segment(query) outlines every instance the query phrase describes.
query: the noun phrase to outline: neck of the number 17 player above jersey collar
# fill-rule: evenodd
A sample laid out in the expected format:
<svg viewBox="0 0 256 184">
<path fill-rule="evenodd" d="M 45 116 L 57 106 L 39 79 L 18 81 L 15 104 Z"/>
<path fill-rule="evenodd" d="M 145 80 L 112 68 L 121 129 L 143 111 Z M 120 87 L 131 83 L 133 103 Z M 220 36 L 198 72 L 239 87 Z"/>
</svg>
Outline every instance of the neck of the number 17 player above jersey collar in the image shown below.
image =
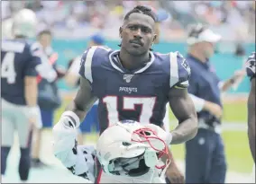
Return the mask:
<svg viewBox="0 0 256 184">
<path fill-rule="evenodd" d="M 149 62 L 151 57 L 149 52 L 141 56 L 133 56 L 121 48 L 119 58 L 125 69 L 134 70 Z"/>
</svg>

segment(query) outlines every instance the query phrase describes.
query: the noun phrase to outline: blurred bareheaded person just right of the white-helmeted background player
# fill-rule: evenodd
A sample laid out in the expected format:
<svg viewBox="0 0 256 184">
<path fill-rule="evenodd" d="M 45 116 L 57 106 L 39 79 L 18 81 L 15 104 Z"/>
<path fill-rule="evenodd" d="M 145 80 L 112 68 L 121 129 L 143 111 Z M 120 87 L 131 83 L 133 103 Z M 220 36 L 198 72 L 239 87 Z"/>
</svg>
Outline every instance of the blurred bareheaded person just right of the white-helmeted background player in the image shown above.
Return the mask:
<svg viewBox="0 0 256 184">
<path fill-rule="evenodd" d="M 58 54 L 51 48 L 52 33 L 50 29 L 42 26 L 37 33 L 37 41 L 38 46 L 42 49 L 41 66 L 38 67 L 40 74 L 37 78 L 42 127 L 34 129 L 32 167 L 46 166 L 40 159 L 42 130 L 52 127 L 54 111 L 61 104 L 57 82 L 65 74 L 65 71 L 56 64 Z"/>
</svg>

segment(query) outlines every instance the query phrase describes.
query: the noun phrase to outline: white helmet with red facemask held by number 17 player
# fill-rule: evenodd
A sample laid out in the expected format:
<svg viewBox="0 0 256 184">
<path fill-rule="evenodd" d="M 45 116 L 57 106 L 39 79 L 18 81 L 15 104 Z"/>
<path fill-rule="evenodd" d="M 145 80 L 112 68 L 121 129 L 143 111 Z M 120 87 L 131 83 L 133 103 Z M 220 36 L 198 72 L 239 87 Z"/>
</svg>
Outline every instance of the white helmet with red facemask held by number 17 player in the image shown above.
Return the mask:
<svg viewBox="0 0 256 184">
<path fill-rule="evenodd" d="M 105 173 L 113 175 L 137 177 L 169 165 L 165 141 L 151 127 L 133 120 L 107 127 L 97 141 L 96 155 Z M 167 162 L 159 166 L 163 155 Z"/>
</svg>

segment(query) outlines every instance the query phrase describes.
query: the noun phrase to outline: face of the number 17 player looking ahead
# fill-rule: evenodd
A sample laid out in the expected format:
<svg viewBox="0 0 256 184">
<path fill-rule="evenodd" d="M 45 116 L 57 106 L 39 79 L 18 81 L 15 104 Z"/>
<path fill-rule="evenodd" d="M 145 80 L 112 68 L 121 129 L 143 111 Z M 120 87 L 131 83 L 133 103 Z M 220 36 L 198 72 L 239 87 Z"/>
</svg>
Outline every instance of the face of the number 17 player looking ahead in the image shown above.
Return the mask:
<svg viewBox="0 0 256 184">
<path fill-rule="evenodd" d="M 149 15 L 132 13 L 120 28 L 122 48 L 131 55 L 145 54 L 156 39 L 154 29 L 155 22 Z"/>
</svg>

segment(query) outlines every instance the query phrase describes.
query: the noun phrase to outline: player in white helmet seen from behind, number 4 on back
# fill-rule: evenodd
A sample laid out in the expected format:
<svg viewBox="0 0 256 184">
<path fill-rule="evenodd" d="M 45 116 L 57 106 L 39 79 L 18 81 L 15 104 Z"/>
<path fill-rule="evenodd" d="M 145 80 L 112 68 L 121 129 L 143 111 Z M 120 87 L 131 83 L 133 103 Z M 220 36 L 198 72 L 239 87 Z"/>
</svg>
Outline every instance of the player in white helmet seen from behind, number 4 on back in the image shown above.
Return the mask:
<svg viewBox="0 0 256 184">
<path fill-rule="evenodd" d="M 19 136 L 21 150 L 19 161 L 20 180 L 22 182 L 28 180 L 31 166 L 32 128 L 41 127 L 40 110 L 37 104 L 38 84 L 36 81 L 37 66 L 41 65 L 41 48 L 28 40 L 35 36 L 37 23 L 35 13 L 23 9 L 14 14 L 10 30 L 14 39 L 2 40 L 2 181 L 5 175 L 7 157 L 14 145 L 15 131 Z"/>
</svg>

